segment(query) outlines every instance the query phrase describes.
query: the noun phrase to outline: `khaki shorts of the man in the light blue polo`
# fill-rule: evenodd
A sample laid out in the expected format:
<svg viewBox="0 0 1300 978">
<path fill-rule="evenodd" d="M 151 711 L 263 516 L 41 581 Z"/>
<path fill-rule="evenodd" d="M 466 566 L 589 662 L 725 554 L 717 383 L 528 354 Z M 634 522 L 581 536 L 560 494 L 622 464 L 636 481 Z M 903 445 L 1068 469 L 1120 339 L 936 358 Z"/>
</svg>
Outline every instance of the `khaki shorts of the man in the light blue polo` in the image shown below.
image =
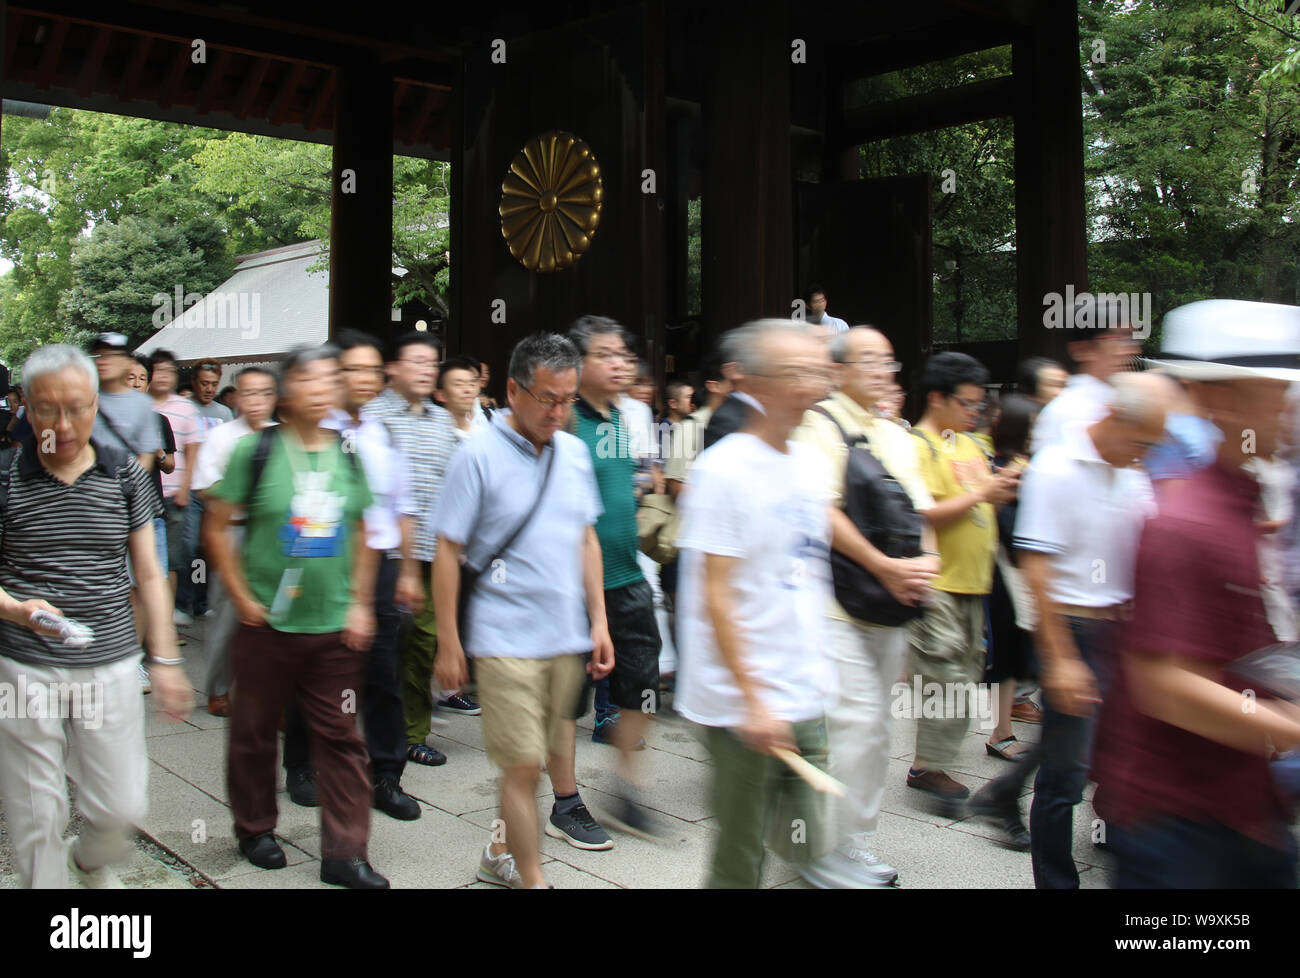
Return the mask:
<svg viewBox="0 0 1300 978">
<path fill-rule="evenodd" d="M 484 745 L 498 767 L 546 762 L 560 722 L 572 717 L 586 678 L 586 657 L 474 659 Z"/>
</svg>

